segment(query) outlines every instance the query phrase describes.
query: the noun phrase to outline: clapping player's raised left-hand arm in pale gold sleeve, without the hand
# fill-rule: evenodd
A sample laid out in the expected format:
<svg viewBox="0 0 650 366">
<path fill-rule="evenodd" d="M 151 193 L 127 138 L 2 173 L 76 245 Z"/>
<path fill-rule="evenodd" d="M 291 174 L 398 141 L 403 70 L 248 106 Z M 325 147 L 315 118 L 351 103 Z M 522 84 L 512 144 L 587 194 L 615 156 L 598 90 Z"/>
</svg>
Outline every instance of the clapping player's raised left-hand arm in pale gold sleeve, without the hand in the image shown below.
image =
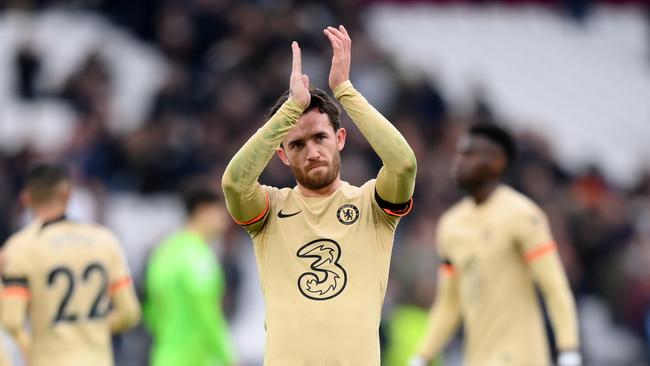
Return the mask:
<svg viewBox="0 0 650 366">
<path fill-rule="evenodd" d="M 221 187 L 235 220 L 245 222 L 264 210 L 266 197 L 257 179 L 301 115 L 302 108 L 287 100 L 230 160 Z"/>
</svg>

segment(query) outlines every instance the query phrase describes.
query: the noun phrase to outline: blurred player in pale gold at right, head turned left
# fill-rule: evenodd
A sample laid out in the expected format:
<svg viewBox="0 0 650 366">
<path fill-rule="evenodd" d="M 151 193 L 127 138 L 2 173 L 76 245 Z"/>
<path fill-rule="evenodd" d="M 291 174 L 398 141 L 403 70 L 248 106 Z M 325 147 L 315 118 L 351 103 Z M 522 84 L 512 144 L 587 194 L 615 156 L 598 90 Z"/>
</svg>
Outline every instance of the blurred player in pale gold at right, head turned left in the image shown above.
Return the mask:
<svg viewBox="0 0 650 366">
<path fill-rule="evenodd" d="M 467 197 L 439 222 L 438 295 L 413 366 L 441 352 L 461 320 L 466 365 L 551 365 L 535 285 L 551 317 L 558 364 L 581 364 L 575 304 L 546 216 L 502 183 L 515 150 L 494 125 L 475 125 L 458 143 L 452 175 Z"/>
</svg>

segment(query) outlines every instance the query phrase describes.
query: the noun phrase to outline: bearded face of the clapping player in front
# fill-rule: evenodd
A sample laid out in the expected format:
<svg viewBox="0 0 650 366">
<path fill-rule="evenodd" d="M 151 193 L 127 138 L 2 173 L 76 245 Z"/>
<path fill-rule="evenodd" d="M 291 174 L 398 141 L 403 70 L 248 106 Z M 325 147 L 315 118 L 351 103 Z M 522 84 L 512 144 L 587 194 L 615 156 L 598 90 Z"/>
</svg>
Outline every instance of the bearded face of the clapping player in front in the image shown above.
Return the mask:
<svg viewBox="0 0 650 366">
<path fill-rule="evenodd" d="M 313 109 L 285 136 L 278 155 L 301 186 L 318 190 L 339 177 L 344 145 L 345 129 L 334 131 L 327 114 Z"/>
</svg>

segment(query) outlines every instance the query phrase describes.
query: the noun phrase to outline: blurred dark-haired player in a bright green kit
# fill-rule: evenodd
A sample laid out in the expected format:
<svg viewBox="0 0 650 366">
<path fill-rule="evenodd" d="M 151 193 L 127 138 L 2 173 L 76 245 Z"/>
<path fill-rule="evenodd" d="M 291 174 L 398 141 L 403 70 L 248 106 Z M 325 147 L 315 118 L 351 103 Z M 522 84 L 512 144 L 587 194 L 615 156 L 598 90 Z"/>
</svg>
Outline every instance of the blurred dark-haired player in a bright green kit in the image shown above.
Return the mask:
<svg viewBox="0 0 650 366">
<path fill-rule="evenodd" d="M 226 210 L 199 183 L 183 197 L 184 230 L 154 251 L 146 275 L 145 323 L 153 334 L 152 366 L 234 365 L 221 298 L 224 277 L 210 248 L 223 233 Z"/>
</svg>

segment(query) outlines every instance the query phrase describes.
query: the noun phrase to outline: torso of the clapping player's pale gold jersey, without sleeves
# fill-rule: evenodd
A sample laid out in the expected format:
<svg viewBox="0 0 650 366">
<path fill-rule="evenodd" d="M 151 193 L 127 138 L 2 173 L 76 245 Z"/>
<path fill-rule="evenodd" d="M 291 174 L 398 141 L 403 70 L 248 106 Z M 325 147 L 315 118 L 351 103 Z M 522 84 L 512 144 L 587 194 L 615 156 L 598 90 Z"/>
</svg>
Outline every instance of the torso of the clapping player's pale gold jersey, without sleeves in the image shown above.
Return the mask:
<svg viewBox="0 0 650 366">
<path fill-rule="evenodd" d="M 264 364 L 379 365 L 378 328 L 399 218 L 378 206 L 375 181 L 344 182 L 324 198 L 263 188 L 269 213 L 250 234 L 267 306 Z"/>
</svg>

